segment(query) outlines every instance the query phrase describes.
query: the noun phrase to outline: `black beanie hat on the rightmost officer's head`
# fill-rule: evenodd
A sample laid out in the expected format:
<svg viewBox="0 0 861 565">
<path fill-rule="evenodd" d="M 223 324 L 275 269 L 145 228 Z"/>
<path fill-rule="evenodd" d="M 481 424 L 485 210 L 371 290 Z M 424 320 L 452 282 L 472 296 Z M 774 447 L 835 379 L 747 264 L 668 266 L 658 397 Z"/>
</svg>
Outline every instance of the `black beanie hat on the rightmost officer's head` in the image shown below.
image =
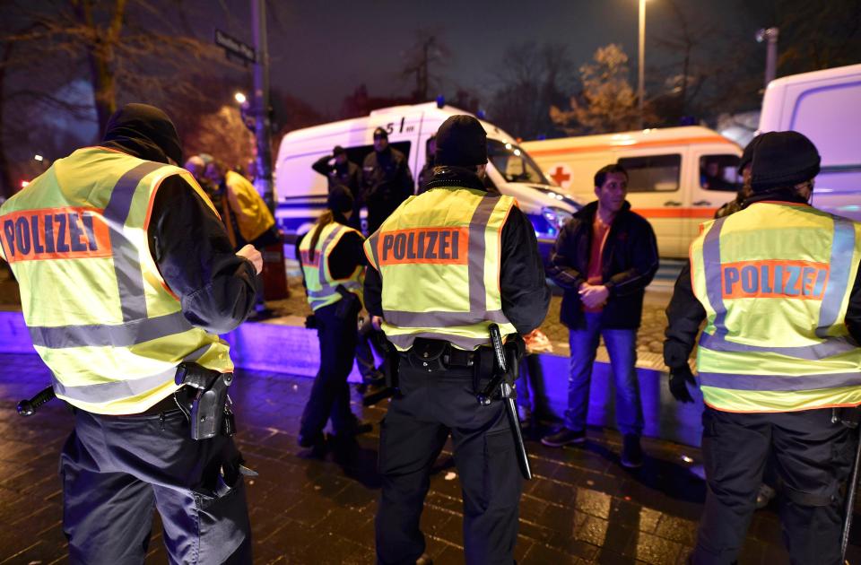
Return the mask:
<svg viewBox="0 0 861 565">
<path fill-rule="evenodd" d="M 753 148 L 751 169 L 753 192 L 792 187 L 819 173 L 819 152 L 804 135 L 791 131 L 769 132 L 758 139 Z"/>
</svg>

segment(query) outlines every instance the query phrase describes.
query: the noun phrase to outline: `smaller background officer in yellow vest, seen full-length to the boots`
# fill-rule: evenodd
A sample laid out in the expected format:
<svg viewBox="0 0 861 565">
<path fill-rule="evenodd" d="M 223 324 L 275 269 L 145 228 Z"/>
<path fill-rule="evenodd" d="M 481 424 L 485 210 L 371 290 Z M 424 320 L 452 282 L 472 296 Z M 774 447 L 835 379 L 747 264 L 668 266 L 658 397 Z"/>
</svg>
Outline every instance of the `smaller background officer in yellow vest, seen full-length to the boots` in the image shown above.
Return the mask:
<svg viewBox="0 0 861 565">
<path fill-rule="evenodd" d="M 320 341 L 320 369 L 302 412 L 299 445 L 311 448 L 316 456 L 326 452 L 323 429 L 330 416 L 340 447 L 367 429 L 350 411 L 347 385 L 356 351 L 356 318 L 361 310 L 365 270 L 364 239 L 347 226 L 352 205 L 347 187 L 334 187 L 329 192 L 328 210 L 299 243 L 305 288 L 314 310 L 310 326 L 317 328 Z"/>
</svg>

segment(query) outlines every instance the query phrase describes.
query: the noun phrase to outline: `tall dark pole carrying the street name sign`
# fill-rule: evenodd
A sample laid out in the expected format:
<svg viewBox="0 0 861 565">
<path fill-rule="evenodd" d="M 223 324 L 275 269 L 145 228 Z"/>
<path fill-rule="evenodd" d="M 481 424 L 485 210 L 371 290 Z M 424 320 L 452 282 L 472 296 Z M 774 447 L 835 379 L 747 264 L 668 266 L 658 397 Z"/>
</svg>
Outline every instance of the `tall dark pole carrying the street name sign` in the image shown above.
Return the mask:
<svg viewBox="0 0 861 565">
<path fill-rule="evenodd" d="M 257 139 L 257 178 L 254 184 L 269 210 L 274 212 L 272 189 L 272 144 L 269 122 L 269 46 L 266 39 L 265 0 L 251 0 L 251 19 L 254 27 L 254 48 L 257 61 L 254 64 L 254 133 Z"/>
</svg>

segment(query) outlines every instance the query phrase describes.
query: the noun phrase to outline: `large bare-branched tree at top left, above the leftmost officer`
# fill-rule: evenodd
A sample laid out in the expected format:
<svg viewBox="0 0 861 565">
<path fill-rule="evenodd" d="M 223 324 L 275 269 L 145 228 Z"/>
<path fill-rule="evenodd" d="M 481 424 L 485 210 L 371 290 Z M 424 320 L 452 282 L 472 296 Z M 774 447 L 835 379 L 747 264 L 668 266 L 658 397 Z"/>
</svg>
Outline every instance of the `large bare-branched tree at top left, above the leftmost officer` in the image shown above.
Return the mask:
<svg viewBox="0 0 861 565">
<path fill-rule="evenodd" d="M 0 31 L 0 164 L 9 161 L 3 141 L 28 126 L 12 125 L 4 116 L 21 117 L 35 107 L 55 116 L 94 118 L 98 131 L 124 101 L 147 101 L 175 113 L 174 105 L 196 99 L 199 113 L 214 111 L 196 79 L 204 71 L 235 74 L 239 67 L 225 63 L 210 43 L 179 30 L 184 18 L 172 16 L 181 10 L 182 4 L 170 0 L 5 3 L 0 19 L 14 27 Z M 65 84 L 82 78 L 93 100 L 57 96 Z M 4 178 L 8 195 L 7 183 Z"/>
</svg>

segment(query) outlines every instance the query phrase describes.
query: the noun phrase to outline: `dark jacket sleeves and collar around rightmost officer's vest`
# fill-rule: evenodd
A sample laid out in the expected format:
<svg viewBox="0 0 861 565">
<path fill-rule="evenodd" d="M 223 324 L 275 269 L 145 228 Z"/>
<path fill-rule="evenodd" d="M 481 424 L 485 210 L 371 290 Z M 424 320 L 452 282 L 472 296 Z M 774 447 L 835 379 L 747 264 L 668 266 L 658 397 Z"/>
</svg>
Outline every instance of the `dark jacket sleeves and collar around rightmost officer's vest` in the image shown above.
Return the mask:
<svg viewBox="0 0 861 565">
<path fill-rule="evenodd" d="M 803 203 L 800 197 L 778 197 L 774 195 L 754 195 L 744 201 L 744 206 L 758 202 L 759 200 L 785 200 L 787 202 Z M 727 214 L 728 215 L 728 214 Z M 670 369 L 685 365 L 696 345 L 697 334 L 700 325 L 706 319 L 706 309 L 697 300 L 691 286 L 691 260 L 683 266 L 682 273 L 675 281 L 673 298 L 666 307 L 666 319 L 669 324 L 665 330 L 664 340 L 664 364 Z M 861 266 L 852 285 L 852 293 L 849 295 L 849 304 L 846 312 L 846 325 L 849 335 L 857 343 L 861 343 Z"/>
</svg>

